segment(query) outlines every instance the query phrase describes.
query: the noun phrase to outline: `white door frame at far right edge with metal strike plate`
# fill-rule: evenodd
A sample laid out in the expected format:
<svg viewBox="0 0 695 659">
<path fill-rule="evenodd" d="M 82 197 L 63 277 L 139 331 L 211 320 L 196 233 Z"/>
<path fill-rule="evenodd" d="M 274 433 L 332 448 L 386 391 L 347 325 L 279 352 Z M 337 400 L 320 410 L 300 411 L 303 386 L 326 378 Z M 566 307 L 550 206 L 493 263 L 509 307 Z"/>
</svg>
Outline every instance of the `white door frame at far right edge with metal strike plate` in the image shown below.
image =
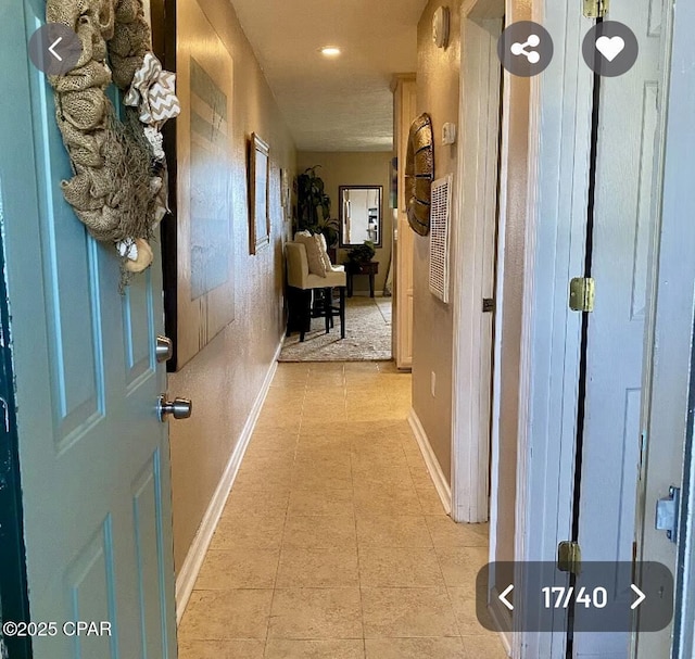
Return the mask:
<svg viewBox="0 0 695 659">
<path fill-rule="evenodd" d="M 656 315 L 648 347 L 654 366 L 647 379 L 650 385 L 645 391 L 645 458 L 640 489 L 642 528 L 637 557 L 666 565 L 679 575 L 679 582 L 674 624 L 658 633 L 637 633 L 637 659 L 691 659 L 695 656 L 695 529 L 692 520 L 695 510 L 692 416 L 695 409 L 695 223 L 692 221 L 695 217 L 694 31 L 695 4 L 690 0 L 678 0 L 667 109 Z M 681 489 L 678 544 L 669 540 L 665 531 L 655 529 L 656 503 L 669 496 L 672 485 Z M 672 637 L 674 647 L 671 654 Z"/>
</svg>

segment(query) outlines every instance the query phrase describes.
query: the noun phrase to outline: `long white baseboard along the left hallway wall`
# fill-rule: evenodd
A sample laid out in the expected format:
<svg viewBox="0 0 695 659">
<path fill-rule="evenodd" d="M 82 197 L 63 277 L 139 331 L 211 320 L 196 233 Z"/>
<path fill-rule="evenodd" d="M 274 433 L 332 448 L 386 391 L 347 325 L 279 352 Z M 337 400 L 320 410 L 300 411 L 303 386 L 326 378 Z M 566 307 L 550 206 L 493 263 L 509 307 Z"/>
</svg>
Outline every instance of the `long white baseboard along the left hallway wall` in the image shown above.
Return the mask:
<svg viewBox="0 0 695 659">
<path fill-rule="evenodd" d="M 253 403 L 253 407 L 251 408 L 249 418 L 247 419 L 243 430 L 241 431 L 239 442 L 237 442 L 237 446 L 235 447 L 231 457 L 227 462 L 227 467 L 225 468 L 217 489 L 215 490 L 215 494 L 213 494 L 210 506 L 207 506 L 207 510 L 203 516 L 203 521 L 198 529 L 198 533 L 195 534 L 190 549 L 188 550 L 186 560 L 184 561 L 184 565 L 181 566 L 181 569 L 176 578 L 177 624 L 181 622 L 181 618 L 184 617 L 184 612 L 186 611 L 186 606 L 188 605 L 188 600 L 190 599 L 191 593 L 193 592 L 193 586 L 195 584 L 195 580 L 198 579 L 198 573 L 200 572 L 203 560 L 205 559 L 207 547 L 210 546 L 210 543 L 213 538 L 213 534 L 215 533 L 215 529 L 217 528 L 217 523 L 219 522 L 222 512 L 225 509 L 227 497 L 229 496 L 231 486 L 233 485 L 237 473 L 239 472 L 239 468 L 241 467 L 241 461 L 243 460 L 244 453 L 247 452 L 249 442 L 251 441 L 251 435 L 253 434 L 253 430 L 258 420 L 258 416 L 261 415 L 263 404 L 265 403 L 265 400 L 268 395 L 268 390 L 270 389 L 270 383 L 273 382 L 275 371 L 278 368 L 278 357 L 281 350 L 282 342 L 280 342 L 280 344 L 278 345 L 278 350 L 273 357 L 273 364 L 268 369 L 261 391 L 258 392 L 258 395 Z"/>
</svg>

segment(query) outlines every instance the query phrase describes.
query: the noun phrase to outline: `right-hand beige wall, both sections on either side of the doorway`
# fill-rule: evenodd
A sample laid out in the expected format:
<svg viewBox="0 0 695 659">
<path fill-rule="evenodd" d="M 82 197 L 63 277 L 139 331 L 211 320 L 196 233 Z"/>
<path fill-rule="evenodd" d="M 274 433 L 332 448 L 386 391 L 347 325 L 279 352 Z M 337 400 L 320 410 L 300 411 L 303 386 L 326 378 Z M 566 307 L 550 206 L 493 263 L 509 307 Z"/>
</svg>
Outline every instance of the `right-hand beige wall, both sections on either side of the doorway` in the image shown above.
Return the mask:
<svg viewBox="0 0 695 659">
<path fill-rule="evenodd" d="M 451 7 L 451 43 L 443 51 L 431 40 L 432 13 L 439 0 L 427 5 L 418 26 L 418 113 L 428 112 L 434 128 L 435 178 L 456 174 L 457 147 L 438 143 L 442 124 L 458 123 L 460 15 Z M 514 3 L 507 23 L 529 21 L 531 1 Z M 507 177 L 506 245 L 504 261 L 504 306 L 497 317 L 502 332 L 502 388 L 500 392 L 500 464 L 496 560 L 514 560 L 517 423 L 519 411 L 519 359 L 521 311 L 523 303 L 523 250 L 528 194 L 529 80 L 507 76 L 509 88 L 509 128 Z M 454 219 L 455 221 L 455 219 Z M 415 241 L 415 313 L 413 406 L 417 413 L 442 471 L 451 473 L 451 392 L 452 392 L 452 306 L 433 297 L 428 290 L 427 239 Z M 452 254 L 452 259 L 456 255 Z M 453 266 L 453 264 L 452 264 Z M 453 302 L 455 304 L 455 301 Z M 437 394 L 430 393 L 431 372 L 437 373 Z"/>
</svg>

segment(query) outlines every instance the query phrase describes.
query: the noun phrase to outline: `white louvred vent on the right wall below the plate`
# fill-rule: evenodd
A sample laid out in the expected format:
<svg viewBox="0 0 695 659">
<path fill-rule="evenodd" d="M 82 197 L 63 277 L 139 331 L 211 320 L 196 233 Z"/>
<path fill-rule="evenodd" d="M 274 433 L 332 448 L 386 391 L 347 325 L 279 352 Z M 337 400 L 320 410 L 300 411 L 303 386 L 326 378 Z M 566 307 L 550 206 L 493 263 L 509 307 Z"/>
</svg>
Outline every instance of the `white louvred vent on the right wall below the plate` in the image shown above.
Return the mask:
<svg viewBox="0 0 695 659">
<path fill-rule="evenodd" d="M 448 303 L 448 227 L 452 211 L 453 177 L 432 183 L 430 206 L 430 291 Z"/>
</svg>

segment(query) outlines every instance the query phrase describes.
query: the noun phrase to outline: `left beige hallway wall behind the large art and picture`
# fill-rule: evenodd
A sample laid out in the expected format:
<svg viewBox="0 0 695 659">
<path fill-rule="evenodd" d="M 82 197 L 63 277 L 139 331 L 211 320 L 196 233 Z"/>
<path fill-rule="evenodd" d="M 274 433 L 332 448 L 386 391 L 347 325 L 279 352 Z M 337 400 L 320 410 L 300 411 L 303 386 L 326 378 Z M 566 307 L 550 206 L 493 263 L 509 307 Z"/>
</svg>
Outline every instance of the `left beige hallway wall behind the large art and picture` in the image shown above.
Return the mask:
<svg viewBox="0 0 695 659">
<path fill-rule="evenodd" d="M 179 47 L 190 34 L 194 0 L 179 2 Z M 237 445 L 283 333 L 279 169 L 295 173 L 294 143 L 228 0 L 201 0 L 208 22 L 233 59 L 233 278 L 236 319 L 181 371 L 169 393 L 193 401 L 193 416 L 170 424 L 174 554 L 180 570 L 203 515 Z M 231 87 L 231 84 L 230 84 Z M 178 89 L 182 103 L 189 91 Z M 271 244 L 249 255 L 247 140 L 257 132 L 270 144 Z M 187 166 L 179 163 L 180 166 Z"/>
</svg>

